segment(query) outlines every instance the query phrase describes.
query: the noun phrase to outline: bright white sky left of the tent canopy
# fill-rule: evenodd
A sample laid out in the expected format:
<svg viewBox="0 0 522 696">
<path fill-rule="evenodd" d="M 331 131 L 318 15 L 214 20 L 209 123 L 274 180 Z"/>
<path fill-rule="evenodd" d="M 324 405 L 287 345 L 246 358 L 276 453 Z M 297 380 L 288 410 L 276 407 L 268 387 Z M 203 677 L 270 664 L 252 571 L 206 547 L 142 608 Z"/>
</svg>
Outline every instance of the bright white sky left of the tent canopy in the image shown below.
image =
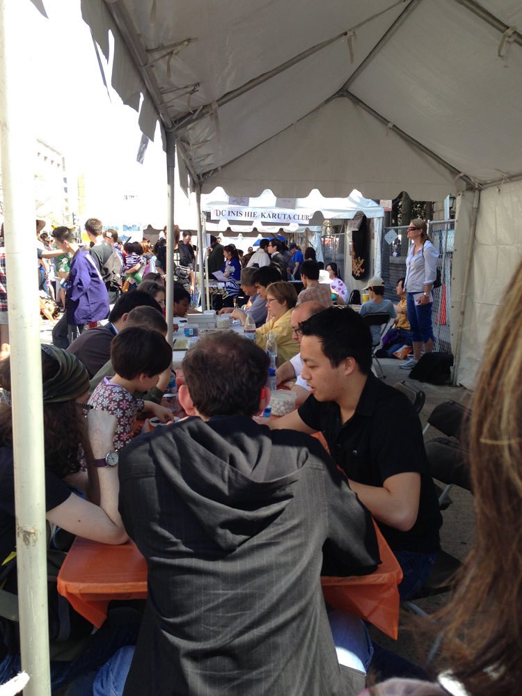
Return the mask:
<svg viewBox="0 0 522 696">
<path fill-rule="evenodd" d="M 166 159 L 159 127 L 139 164 L 138 113 L 122 104 L 105 65 L 109 98 L 80 1 L 44 0 L 48 19 L 29 0 L 19 2 L 27 5 L 26 45 L 35 47 L 31 103 L 36 107 L 36 134 L 65 156 L 70 173 L 86 175 L 87 216 L 122 219 L 125 206 L 135 203 L 127 216 L 144 226 L 163 227 Z M 105 63 L 101 52 L 100 56 Z M 137 193 L 138 198 L 127 204 L 124 192 Z M 176 193 L 175 200 L 185 207 L 181 189 Z M 180 226 L 189 225 L 183 221 Z"/>
</svg>

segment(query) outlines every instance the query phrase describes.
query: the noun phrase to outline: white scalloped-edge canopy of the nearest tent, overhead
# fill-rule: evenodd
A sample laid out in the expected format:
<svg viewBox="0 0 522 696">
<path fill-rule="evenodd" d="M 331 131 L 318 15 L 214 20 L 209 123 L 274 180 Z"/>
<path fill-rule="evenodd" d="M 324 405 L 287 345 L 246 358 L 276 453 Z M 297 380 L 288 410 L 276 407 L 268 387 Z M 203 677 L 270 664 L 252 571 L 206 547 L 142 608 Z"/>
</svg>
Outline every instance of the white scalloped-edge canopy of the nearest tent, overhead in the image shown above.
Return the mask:
<svg viewBox="0 0 522 696">
<path fill-rule="evenodd" d="M 203 193 L 441 200 L 466 189 L 452 344 L 457 360 L 460 348 L 480 354 L 487 324 L 479 335 L 463 317 L 496 301 L 472 300 L 471 286 L 475 228 L 498 201 L 479 207 L 469 191 L 499 187 L 512 209 L 522 180 L 519 0 L 82 0 L 82 11 L 107 58 L 113 33 L 112 83 L 141 129 L 152 138 L 161 121 Z M 511 220 L 505 240 L 514 258 L 521 226 Z M 484 269 L 492 288 L 494 259 Z M 471 386 L 472 373 L 459 379 Z"/>
</svg>

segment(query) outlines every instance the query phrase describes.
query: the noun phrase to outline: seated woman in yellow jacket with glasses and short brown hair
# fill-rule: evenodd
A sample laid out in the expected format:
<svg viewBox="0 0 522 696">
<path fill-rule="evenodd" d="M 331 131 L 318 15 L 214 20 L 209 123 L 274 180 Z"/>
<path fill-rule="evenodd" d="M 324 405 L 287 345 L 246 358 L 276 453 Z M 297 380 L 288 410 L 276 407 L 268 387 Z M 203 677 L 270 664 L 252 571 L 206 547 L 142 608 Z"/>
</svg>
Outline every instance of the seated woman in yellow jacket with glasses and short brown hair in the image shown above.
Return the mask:
<svg viewBox="0 0 522 696">
<path fill-rule="evenodd" d="M 255 341 L 261 348 L 267 345 L 269 333 L 274 334 L 277 343 L 277 366 L 299 353 L 299 346 L 292 338 L 290 317 L 297 302 L 297 293 L 290 283 L 284 280 L 270 283 L 267 287 L 267 309 L 271 317 L 266 324 L 255 329 Z"/>
</svg>

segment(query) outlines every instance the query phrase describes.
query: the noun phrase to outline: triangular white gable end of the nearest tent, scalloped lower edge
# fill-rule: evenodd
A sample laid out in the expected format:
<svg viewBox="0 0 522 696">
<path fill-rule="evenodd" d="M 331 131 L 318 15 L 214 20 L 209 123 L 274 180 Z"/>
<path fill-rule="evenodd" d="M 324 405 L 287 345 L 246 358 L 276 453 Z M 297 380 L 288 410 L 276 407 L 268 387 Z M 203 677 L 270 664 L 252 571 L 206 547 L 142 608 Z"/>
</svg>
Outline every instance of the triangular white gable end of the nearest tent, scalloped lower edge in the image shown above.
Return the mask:
<svg viewBox="0 0 522 696">
<path fill-rule="evenodd" d="M 203 191 L 218 185 L 230 196 L 270 188 L 296 198 L 317 187 L 323 196 L 361 189 L 367 198 L 408 191 L 413 200 L 443 200 L 462 184 L 359 106 L 336 99 L 223 167 Z"/>
</svg>

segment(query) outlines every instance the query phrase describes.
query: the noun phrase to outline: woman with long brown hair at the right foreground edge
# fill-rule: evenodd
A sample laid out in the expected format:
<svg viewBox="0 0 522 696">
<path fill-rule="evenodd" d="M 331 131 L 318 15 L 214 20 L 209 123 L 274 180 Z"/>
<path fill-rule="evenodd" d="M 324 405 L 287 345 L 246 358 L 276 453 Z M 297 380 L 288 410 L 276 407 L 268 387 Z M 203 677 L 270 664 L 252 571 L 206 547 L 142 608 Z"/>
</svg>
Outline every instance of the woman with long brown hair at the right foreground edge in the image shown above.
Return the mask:
<svg viewBox="0 0 522 696">
<path fill-rule="evenodd" d="M 446 690 L 392 680 L 372 688 L 375 696 L 521 692 L 522 263 L 508 287 L 509 303 L 489 333 L 470 420 L 475 544 L 450 605 L 434 617 L 450 669 L 439 677 Z"/>
</svg>

